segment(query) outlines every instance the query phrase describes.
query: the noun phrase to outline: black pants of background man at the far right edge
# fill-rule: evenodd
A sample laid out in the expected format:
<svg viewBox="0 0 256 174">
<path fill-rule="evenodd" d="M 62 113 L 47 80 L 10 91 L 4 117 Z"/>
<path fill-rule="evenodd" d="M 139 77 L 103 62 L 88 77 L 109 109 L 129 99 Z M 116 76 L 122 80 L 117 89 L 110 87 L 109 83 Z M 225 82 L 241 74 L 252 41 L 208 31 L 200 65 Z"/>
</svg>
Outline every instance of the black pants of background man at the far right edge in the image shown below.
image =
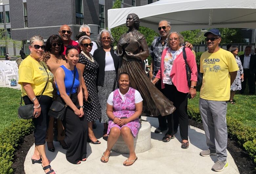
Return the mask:
<svg viewBox="0 0 256 174">
<path fill-rule="evenodd" d="M 242 82 L 242 90 L 240 92 L 244 93 L 247 79 L 248 79 L 248 85 L 249 85 L 249 93 L 254 94 L 255 93 L 255 77 L 253 73 L 250 73 L 249 69 L 244 69 L 244 81 Z"/>
</svg>

